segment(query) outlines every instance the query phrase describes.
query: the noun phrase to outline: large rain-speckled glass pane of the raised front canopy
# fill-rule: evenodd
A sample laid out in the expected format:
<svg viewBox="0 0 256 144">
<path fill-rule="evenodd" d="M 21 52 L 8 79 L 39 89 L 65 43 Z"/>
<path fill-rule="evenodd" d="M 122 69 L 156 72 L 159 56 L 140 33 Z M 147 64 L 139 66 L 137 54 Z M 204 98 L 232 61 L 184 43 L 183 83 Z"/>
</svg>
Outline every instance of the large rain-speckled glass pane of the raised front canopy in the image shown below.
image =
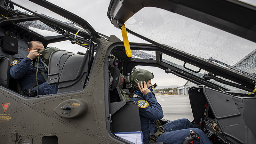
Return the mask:
<svg viewBox="0 0 256 144">
<path fill-rule="evenodd" d="M 203 60 L 225 67 L 233 66 L 231 70 L 240 69 L 250 74 L 255 72 L 256 43 L 196 20 L 164 9 L 145 7 L 127 20 L 125 25 L 159 44 Z M 251 64 L 245 68 L 243 65 L 247 61 Z"/>
</svg>

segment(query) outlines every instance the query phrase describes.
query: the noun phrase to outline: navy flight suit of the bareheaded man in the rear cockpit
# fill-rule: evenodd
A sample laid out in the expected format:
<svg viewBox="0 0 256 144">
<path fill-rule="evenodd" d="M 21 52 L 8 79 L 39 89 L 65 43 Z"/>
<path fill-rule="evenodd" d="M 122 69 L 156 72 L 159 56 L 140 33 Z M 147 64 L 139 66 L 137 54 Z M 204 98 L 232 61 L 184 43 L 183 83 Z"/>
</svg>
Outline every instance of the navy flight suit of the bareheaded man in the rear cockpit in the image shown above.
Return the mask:
<svg viewBox="0 0 256 144">
<path fill-rule="evenodd" d="M 14 63 L 14 65 L 12 65 L 11 63 L 10 75 L 14 79 L 19 80 L 21 89 L 22 91 L 24 91 L 28 89 L 36 81 L 36 68 L 33 67 L 33 64 L 31 63 L 32 60 L 30 60 L 28 57 L 15 60 L 15 62 L 12 62 Z M 35 65 L 37 65 L 37 58 Z M 44 65 L 42 63 L 41 57 L 39 57 L 38 67 L 43 68 L 43 72 L 46 76 L 48 76 L 48 73 L 46 72 Z M 47 84 L 47 82 L 44 80 L 43 75 L 39 71 L 37 73 L 37 79 L 39 85 L 38 95 L 54 94 L 58 92 L 58 84 Z M 32 89 L 37 91 L 37 86 L 35 86 Z"/>
</svg>

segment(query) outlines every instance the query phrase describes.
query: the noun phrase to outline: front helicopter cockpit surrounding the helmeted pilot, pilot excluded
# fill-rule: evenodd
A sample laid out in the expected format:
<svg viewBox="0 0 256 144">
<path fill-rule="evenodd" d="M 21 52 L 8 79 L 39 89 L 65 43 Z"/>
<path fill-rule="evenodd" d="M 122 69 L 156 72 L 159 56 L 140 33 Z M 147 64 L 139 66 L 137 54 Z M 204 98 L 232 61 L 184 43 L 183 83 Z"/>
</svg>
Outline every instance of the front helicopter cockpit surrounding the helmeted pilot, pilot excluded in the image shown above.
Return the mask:
<svg viewBox="0 0 256 144">
<path fill-rule="evenodd" d="M 231 141 L 244 139 L 244 136 L 239 132 L 231 134 L 235 129 L 244 129 L 245 127 L 245 131 L 248 132 L 246 137 L 250 137 L 249 133 L 255 133 L 253 129 L 255 124 L 248 121 L 252 109 L 245 107 L 245 105 L 254 107 L 250 104 L 255 101 L 254 94 L 247 95 L 245 92 L 232 91 L 237 89 L 232 81 L 229 81 L 229 85 L 217 81 L 205 81 L 204 75 L 209 74 L 209 72 L 195 66 L 189 66 L 186 62 L 165 54 L 154 45 L 131 44 L 131 49 L 132 57 L 127 57 L 124 47 L 121 46 L 116 46 L 108 53 L 109 101 L 114 133 L 141 131 L 140 124 L 132 123 L 134 126 L 131 126 L 129 123 L 130 121 L 140 122 L 140 120 L 136 104 L 129 101 L 129 95 L 126 94 L 133 89 L 130 85 L 129 75 L 138 65 L 158 67 L 165 73 L 175 74 L 197 84 L 196 87 L 190 88 L 188 91 L 194 123 L 206 133 L 213 143 L 226 142 L 227 139 L 231 139 Z M 194 79 L 195 76 L 191 75 L 196 75 L 197 78 Z M 198 81 L 199 77 L 202 79 L 200 82 Z M 212 85 L 212 87 L 203 85 Z M 216 97 L 217 95 L 218 97 Z M 230 110 L 223 111 L 223 109 Z M 230 126 L 231 119 L 235 121 Z"/>
</svg>

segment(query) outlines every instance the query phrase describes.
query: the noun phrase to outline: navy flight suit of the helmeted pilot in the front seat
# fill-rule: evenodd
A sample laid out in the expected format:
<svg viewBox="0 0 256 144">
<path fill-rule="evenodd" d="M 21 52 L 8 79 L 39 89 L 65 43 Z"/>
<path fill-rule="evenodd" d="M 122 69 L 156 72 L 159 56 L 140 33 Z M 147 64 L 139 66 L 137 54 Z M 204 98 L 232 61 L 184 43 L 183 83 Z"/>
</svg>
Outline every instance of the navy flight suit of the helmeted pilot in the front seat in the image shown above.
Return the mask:
<svg viewBox="0 0 256 144">
<path fill-rule="evenodd" d="M 147 144 L 150 140 L 150 132 L 151 135 L 156 133 L 155 119 L 161 119 L 164 117 L 162 107 L 151 92 L 147 93 L 144 100 L 142 100 L 139 96 L 131 98 L 131 100 L 135 101 L 139 106 L 143 142 L 144 144 Z M 158 136 L 156 142 L 164 142 L 164 144 L 181 144 L 182 141 L 189 135 L 190 130 L 194 130 L 200 135 L 199 141 L 194 141 L 195 144 L 212 144 L 204 132 L 200 129 L 194 128 L 193 124 L 191 124 L 188 119 L 171 121 L 164 124 L 163 128 L 165 133 Z"/>
</svg>

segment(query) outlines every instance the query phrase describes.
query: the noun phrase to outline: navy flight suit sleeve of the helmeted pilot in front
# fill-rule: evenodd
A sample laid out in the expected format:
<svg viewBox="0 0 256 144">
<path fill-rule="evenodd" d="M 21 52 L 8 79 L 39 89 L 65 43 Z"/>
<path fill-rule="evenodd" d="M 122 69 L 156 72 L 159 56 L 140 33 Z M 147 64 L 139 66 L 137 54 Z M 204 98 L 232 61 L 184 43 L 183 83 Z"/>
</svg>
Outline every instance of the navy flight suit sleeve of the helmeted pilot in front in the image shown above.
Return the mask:
<svg viewBox="0 0 256 144">
<path fill-rule="evenodd" d="M 147 93 L 145 100 L 148 102 L 148 106 L 145 108 L 141 108 L 139 106 L 141 103 L 140 101 L 137 102 L 138 106 L 140 107 L 140 114 L 142 116 L 152 119 L 161 119 L 164 117 L 161 105 L 157 102 L 155 96 L 151 92 Z"/>
</svg>

